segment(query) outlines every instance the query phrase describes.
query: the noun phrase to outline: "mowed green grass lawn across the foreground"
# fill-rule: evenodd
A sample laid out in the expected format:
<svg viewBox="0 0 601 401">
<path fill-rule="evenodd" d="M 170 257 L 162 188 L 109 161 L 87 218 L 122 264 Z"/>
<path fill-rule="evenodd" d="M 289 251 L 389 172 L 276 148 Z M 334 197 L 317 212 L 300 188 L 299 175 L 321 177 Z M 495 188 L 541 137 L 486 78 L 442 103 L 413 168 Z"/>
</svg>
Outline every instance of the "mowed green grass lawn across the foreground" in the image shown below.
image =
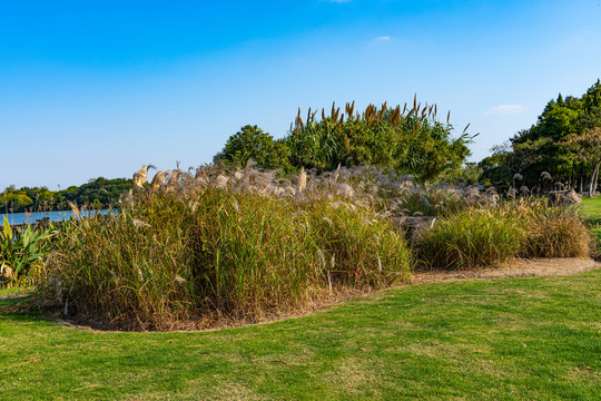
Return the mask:
<svg viewBox="0 0 601 401">
<path fill-rule="evenodd" d="M 0 399 L 599 400 L 601 271 L 405 286 L 213 332 L 4 310 Z"/>
</svg>

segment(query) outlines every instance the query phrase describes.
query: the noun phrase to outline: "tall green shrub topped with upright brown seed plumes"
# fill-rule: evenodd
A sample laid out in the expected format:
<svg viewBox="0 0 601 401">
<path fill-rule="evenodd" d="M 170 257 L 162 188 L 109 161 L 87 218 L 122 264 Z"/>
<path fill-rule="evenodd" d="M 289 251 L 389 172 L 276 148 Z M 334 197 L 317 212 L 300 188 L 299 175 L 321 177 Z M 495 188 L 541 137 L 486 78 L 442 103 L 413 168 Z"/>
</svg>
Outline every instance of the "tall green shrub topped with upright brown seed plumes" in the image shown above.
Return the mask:
<svg viewBox="0 0 601 401">
<path fill-rule="evenodd" d="M 318 172 L 371 165 L 426 182 L 457 173 L 470 155 L 471 138 L 465 133 L 452 138 L 453 126 L 436 120 L 434 105 L 422 107 L 416 99 L 411 110 L 368 105 L 361 115 L 354 105 L 342 113 L 333 105 L 329 116 L 322 109 L 321 119 L 309 109 L 303 120 L 298 110 L 286 137 L 292 164 Z"/>
</svg>

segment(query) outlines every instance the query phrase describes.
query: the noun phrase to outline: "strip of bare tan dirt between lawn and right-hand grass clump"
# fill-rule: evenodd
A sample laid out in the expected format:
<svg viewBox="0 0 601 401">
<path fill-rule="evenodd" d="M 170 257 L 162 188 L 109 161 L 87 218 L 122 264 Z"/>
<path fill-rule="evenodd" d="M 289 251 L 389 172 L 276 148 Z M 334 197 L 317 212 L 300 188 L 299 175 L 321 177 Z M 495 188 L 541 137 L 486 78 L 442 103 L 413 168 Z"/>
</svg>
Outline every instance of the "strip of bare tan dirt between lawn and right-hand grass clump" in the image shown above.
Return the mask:
<svg viewBox="0 0 601 401">
<path fill-rule="evenodd" d="M 516 260 L 510 264 L 470 271 L 415 272 L 411 284 L 428 284 L 463 278 L 509 278 L 569 275 L 601 268 L 601 263 L 583 257 Z"/>
</svg>

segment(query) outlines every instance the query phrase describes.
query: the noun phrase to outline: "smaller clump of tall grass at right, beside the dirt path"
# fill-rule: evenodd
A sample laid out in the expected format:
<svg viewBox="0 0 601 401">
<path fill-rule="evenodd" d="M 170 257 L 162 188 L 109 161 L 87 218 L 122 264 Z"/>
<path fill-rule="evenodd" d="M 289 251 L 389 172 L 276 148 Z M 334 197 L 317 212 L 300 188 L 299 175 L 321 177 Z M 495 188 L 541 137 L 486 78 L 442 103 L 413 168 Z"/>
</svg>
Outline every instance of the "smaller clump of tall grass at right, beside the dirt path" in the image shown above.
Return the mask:
<svg viewBox="0 0 601 401">
<path fill-rule="evenodd" d="M 520 198 L 437 221 L 421 235 L 420 257 L 430 267 L 474 268 L 514 257 L 585 257 L 590 244 L 577 209 Z"/>
</svg>

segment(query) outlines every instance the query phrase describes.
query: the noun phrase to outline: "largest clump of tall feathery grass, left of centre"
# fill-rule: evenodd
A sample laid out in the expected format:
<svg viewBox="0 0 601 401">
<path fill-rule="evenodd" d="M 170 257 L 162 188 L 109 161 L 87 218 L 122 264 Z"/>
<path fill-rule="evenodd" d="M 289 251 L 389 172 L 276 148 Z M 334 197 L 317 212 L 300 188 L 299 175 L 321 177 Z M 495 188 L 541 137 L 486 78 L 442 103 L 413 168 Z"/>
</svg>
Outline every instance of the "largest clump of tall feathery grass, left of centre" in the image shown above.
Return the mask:
<svg viewBox="0 0 601 401">
<path fill-rule="evenodd" d="M 97 325 L 169 330 L 254 322 L 408 275 L 406 243 L 366 198 L 339 177 L 304 179 L 158 172 L 118 214 L 59 236 L 42 294 Z"/>
</svg>

